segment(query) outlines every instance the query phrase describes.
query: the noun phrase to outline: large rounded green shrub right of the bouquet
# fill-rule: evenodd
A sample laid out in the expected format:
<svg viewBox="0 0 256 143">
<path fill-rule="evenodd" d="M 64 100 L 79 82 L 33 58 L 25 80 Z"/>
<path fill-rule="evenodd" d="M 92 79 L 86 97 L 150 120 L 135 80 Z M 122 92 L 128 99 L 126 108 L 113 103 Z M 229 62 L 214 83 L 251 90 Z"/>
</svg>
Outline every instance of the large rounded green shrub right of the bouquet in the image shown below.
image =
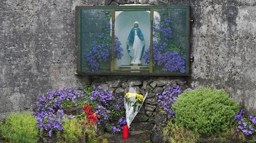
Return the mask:
<svg viewBox="0 0 256 143">
<path fill-rule="evenodd" d="M 228 131 L 240 106 L 223 89 L 195 89 L 180 94 L 172 109 L 179 127 L 212 135 Z"/>
</svg>

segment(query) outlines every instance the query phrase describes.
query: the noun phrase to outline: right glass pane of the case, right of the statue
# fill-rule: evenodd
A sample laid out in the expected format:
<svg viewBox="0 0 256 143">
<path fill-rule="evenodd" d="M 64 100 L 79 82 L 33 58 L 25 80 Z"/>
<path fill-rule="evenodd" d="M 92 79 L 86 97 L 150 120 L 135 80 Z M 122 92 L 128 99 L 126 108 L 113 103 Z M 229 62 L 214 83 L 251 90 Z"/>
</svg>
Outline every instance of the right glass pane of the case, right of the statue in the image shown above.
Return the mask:
<svg viewBox="0 0 256 143">
<path fill-rule="evenodd" d="M 154 15 L 153 62 L 155 73 L 186 72 L 186 9 L 167 8 Z M 144 58 L 149 63 L 149 50 Z"/>
</svg>

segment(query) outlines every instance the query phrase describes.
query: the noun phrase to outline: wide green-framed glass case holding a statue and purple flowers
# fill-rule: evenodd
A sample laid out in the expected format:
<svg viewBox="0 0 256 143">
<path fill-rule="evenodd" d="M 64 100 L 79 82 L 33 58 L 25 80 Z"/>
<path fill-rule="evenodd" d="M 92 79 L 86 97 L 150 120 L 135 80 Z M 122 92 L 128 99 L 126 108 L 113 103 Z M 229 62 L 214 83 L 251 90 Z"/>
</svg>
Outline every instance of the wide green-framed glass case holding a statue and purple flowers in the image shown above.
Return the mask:
<svg viewBox="0 0 256 143">
<path fill-rule="evenodd" d="M 77 6 L 76 74 L 189 76 L 189 6 Z"/>
</svg>

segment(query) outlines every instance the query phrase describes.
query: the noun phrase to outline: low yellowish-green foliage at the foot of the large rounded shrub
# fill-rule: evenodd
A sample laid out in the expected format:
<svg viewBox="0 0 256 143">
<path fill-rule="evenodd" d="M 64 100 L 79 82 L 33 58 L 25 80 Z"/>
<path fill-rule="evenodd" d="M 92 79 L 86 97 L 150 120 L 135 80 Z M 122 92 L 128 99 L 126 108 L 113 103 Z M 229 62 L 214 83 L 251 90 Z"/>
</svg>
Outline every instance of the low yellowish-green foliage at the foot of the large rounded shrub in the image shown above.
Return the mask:
<svg viewBox="0 0 256 143">
<path fill-rule="evenodd" d="M 170 143 L 197 143 L 199 142 L 200 135 L 187 128 L 179 127 L 173 124 L 172 120 L 163 128 L 164 139 Z"/>
</svg>

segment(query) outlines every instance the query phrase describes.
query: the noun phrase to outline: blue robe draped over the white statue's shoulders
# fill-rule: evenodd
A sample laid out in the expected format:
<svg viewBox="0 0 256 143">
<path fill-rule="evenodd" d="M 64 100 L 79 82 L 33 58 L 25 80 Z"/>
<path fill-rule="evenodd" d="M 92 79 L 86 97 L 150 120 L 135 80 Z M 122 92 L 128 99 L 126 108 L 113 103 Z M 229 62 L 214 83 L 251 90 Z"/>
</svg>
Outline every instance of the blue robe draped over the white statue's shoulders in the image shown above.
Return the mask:
<svg viewBox="0 0 256 143">
<path fill-rule="evenodd" d="M 131 50 L 132 50 L 131 47 L 133 46 L 133 43 L 134 43 L 134 35 L 135 35 L 134 33 L 135 33 L 135 28 L 132 28 L 131 31 L 130 31 L 130 34 L 128 36 L 129 45 L 126 46 L 126 49 L 128 50 L 128 54 L 129 54 L 130 58 L 133 58 L 133 53 L 131 52 Z M 142 35 L 142 31 L 139 28 L 137 28 L 137 35 L 138 35 L 139 39 L 144 41 L 144 37 Z M 140 60 L 142 59 L 142 55 L 144 53 L 144 49 L 145 49 L 145 44 L 142 47 Z"/>
</svg>

